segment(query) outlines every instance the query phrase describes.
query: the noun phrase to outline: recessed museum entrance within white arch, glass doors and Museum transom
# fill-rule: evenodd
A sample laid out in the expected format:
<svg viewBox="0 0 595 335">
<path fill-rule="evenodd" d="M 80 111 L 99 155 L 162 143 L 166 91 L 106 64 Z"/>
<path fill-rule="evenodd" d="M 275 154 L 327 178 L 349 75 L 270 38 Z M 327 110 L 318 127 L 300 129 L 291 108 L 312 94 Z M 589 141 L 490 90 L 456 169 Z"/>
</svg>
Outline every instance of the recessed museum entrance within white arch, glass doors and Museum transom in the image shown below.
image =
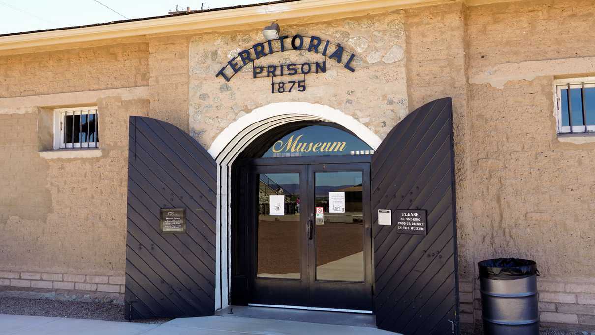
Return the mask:
<svg viewBox="0 0 595 335">
<path fill-rule="evenodd" d="M 233 164 L 231 304 L 372 312 L 367 143 L 337 124 L 296 121 Z"/>
</svg>

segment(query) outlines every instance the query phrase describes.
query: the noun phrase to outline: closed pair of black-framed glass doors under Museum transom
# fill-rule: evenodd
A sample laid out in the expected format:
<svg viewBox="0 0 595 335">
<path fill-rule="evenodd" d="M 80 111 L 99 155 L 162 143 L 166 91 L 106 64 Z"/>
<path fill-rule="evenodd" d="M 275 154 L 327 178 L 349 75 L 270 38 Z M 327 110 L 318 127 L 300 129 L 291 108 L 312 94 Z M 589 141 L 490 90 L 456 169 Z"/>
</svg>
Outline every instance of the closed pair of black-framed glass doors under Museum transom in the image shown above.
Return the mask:
<svg viewBox="0 0 595 335">
<path fill-rule="evenodd" d="M 256 166 L 250 303 L 372 310 L 369 164 Z"/>
</svg>

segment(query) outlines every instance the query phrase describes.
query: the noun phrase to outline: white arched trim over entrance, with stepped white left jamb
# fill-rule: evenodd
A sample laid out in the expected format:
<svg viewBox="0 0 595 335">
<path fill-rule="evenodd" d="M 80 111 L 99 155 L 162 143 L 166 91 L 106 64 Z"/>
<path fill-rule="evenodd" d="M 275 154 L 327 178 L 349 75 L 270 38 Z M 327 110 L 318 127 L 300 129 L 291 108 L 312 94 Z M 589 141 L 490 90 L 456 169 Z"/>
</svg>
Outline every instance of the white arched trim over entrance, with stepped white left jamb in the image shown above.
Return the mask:
<svg viewBox="0 0 595 335">
<path fill-rule="evenodd" d="M 254 109 L 221 132 L 208 152 L 217 161 L 217 255 L 215 259 L 215 309 L 226 308 L 230 298 L 231 273 L 231 164 L 258 136 L 283 124 L 321 120 L 349 129 L 372 149 L 381 139 L 350 115 L 309 102 L 277 102 Z"/>
</svg>

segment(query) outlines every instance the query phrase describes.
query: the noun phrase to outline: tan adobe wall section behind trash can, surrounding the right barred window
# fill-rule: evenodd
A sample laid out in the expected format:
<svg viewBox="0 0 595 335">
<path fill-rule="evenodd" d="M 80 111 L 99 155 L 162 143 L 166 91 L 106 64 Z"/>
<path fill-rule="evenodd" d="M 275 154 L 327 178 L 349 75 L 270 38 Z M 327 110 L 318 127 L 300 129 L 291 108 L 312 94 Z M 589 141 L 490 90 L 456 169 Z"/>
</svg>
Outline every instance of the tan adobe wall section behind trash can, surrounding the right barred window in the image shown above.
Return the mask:
<svg viewBox="0 0 595 335">
<path fill-rule="evenodd" d="M 535 259 L 546 323 L 595 324 L 585 305 L 595 302 L 595 145 L 558 141 L 552 83 L 595 72 L 582 65 L 595 55 L 594 14 L 587 1 L 467 13 L 473 261 Z"/>
</svg>

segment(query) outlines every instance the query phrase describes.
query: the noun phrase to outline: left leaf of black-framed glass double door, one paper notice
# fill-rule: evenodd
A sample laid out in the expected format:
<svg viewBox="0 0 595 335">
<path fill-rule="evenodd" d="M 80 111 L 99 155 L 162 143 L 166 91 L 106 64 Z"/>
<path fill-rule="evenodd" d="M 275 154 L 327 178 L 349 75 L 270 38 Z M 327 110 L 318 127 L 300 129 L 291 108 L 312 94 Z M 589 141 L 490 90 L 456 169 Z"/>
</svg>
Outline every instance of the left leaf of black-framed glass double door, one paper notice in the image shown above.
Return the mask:
<svg viewBox="0 0 595 335">
<path fill-rule="evenodd" d="M 250 278 L 253 305 L 308 305 L 306 165 L 259 166 L 250 174 Z"/>
</svg>

